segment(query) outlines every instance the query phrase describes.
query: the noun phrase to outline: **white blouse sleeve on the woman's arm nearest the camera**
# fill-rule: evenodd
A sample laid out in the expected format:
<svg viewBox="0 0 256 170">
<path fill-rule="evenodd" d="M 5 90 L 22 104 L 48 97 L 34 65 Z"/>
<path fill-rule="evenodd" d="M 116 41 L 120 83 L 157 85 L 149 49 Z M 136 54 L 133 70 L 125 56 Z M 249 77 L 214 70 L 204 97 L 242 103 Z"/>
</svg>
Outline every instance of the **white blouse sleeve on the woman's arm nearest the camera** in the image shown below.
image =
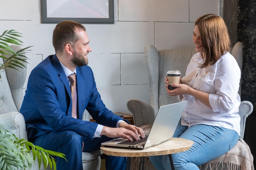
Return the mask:
<svg viewBox="0 0 256 170">
<path fill-rule="evenodd" d="M 209 95 L 213 112 L 228 113 L 239 97 L 241 71 L 235 58 L 229 53 L 216 62 L 216 78 L 214 86 L 216 94 Z"/>
</svg>

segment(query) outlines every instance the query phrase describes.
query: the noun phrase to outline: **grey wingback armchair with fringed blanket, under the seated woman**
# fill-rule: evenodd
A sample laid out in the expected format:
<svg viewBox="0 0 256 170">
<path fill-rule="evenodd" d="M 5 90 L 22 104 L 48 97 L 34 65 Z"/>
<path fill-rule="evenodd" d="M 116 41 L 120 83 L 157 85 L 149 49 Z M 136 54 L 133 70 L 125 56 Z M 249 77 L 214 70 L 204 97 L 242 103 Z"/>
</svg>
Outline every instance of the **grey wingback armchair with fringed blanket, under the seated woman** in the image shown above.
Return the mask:
<svg viewBox="0 0 256 170">
<path fill-rule="evenodd" d="M 166 72 L 168 70 L 180 70 L 182 73 L 181 77 L 183 77 L 186 72 L 186 66 L 189 64 L 192 55 L 196 53 L 194 49 L 168 49 L 158 51 L 153 45 L 146 46 L 144 51 L 150 85 L 150 104 L 137 99 L 130 99 L 127 102 L 128 110 L 132 113 L 136 126 L 152 124 L 160 106 L 178 102 L 177 96 L 172 97 L 167 95 L 166 88 L 164 86 L 164 77 L 166 76 Z M 233 48 L 230 48 L 230 51 L 238 61 L 240 68 L 242 68 L 243 44 L 241 42 L 237 42 Z M 238 144 L 236 144 L 233 149 L 222 157 L 201 165 L 201 170 L 220 170 L 222 168 L 230 168 L 231 170 L 232 164 L 234 165 L 233 167 L 241 166 L 241 169 L 243 170 L 254 169 L 251 151 L 249 146 L 245 143 L 245 141 L 243 141 L 245 121 L 246 118 L 252 113 L 252 110 L 253 105 L 251 102 L 241 102 L 239 107 L 239 114 L 241 117 L 241 136 Z M 237 155 L 237 153 L 240 154 Z M 146 164 L 151 164 L 148 163 L 147 160 L 145 162 Z M 147 165 L 146 167 L 150 170 L 155 169 L 152 165 Z"/>
</svg>

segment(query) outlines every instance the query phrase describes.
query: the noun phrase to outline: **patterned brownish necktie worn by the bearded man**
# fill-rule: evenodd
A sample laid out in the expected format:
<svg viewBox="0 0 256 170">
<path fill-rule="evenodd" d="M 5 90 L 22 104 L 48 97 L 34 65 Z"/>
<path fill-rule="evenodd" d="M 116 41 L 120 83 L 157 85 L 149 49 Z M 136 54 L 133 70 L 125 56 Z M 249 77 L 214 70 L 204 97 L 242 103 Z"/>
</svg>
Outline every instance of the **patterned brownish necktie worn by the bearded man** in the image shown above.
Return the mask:
<svg viewBox="0 0 256 170">
<path fill-rule="evenodd" d="M 77 118 L 77 113 L 76 113 L 76 101 L 77 101 L 77 96 L 76 96 L 76 73 L 73 73 L 67 78 L 70 80 L 70 85 L 71 85 L 71 97 L 72 97 L 72 117 Z"/>
</svg>

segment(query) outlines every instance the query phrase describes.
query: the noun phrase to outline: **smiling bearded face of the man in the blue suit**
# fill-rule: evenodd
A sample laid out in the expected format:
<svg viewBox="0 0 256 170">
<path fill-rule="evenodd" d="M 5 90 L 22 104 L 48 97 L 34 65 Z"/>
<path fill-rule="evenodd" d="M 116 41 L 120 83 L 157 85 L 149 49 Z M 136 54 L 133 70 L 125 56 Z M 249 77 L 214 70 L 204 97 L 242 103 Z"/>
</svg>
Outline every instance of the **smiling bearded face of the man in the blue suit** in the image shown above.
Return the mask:
<svg viewBox="0 0 256 170">
<path fill-rule="evenodd" d="M 79 40 L 74 44 L 72 63 L 76 66 L 85 66 L 88 64 L 88 53 L 92 51 L 89 46 L 89 38 L 84 30 L 76 30 Z"/>
</svg>

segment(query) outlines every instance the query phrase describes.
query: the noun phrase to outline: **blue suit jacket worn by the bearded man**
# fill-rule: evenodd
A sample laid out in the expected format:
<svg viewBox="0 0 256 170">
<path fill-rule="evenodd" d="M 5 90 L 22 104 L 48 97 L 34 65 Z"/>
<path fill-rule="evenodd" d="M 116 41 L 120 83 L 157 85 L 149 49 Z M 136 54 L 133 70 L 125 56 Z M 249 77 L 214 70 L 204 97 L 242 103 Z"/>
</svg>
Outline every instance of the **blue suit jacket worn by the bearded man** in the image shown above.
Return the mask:
<svg viewBox="0 0 256 170">
<path fill-rule="evenodd" d="M 78 119 L 72 117 L 69 81 L 56 55 L 48 56 L 31 71 L 20 108 L 29 139 L 52 130 L 72 130 L 92 139 L 98 124 L 116 127 L 117 121 L 124 120 L 103 104 L 89 66 L 76 68 L 76 81 Z M 82 121 L 85 109 L 98 124 Z"/>
</svg>

